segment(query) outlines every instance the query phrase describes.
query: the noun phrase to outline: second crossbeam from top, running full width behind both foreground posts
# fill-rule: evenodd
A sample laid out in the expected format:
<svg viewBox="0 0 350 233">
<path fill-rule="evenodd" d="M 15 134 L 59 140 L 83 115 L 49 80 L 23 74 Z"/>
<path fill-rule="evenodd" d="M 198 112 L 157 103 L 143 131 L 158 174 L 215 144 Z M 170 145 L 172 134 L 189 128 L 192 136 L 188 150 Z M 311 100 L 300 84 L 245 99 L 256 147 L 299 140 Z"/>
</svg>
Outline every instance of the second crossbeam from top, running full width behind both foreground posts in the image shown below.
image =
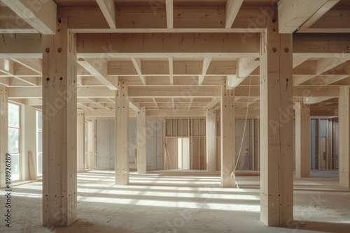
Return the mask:
<svg viewBox="0 0 350 233">
<path fill-rule="evenodd" d="M 82 33 L 78 35 L 79 58 L 203 58 L 259 57 L 259 34 L 249 33 L 242 41 L 239 33 Z M 196 43 L 193 43 L 196 41 Z M 161 45 L 161 46 L 160 46 Z M 296 33 L 293 58 L 348 58 L 350 33 Z M 38 33 L 3 34 L 1 58 L 41 58 Z M 211 63 L 213 63 L 212 61 Z M 113 61 L 109 61 L 113 63 Z M 210 68 L 209 68 L 210 69 Z"/>
</svg>

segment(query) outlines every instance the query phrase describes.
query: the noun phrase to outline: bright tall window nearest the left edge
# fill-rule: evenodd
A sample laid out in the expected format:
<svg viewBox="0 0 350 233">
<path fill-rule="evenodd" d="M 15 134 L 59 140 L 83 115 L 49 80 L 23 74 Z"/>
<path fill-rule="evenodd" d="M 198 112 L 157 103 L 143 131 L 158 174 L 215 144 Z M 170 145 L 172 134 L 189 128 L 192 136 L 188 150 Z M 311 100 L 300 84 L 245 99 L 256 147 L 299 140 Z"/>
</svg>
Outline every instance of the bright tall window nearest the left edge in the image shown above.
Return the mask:
<svg viewBox="0 0 350 233">
<path fill-rule="evenodd" d="M 20 180 L 20 105 L 8 103 L 8 152 L 11 155 L 11 178 Z"/>
</svg>

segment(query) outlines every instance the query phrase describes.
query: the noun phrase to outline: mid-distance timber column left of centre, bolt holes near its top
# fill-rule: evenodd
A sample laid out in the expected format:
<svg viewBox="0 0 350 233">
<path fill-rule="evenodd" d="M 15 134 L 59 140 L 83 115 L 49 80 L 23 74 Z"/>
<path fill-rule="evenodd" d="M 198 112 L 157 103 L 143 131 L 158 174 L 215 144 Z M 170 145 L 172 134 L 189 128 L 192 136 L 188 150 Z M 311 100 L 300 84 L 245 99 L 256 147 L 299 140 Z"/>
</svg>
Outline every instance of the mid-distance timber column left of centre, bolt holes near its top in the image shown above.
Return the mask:
<svg viewBox="0 0 350 233">
<path fill-rule="evenodd" d="M 127 82 L 118 82 L 116 91 L 116 184 L 129 184 L 129 101 Z"/>
</svg>

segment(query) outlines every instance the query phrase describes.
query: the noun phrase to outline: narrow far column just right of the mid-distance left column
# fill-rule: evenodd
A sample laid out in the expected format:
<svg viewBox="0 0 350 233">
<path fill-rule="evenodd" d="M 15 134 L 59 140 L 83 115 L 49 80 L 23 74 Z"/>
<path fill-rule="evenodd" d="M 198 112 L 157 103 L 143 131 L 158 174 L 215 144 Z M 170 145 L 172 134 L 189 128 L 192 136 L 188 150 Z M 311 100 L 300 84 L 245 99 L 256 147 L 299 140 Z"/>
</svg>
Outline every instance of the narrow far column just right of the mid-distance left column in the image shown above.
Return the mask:
<svg viewBox="0 0 350 233">
<path fill-rule="evenodd" d="M 146 108 L 137 113 L 137 173 L 146 173 Z"/>
</svg>

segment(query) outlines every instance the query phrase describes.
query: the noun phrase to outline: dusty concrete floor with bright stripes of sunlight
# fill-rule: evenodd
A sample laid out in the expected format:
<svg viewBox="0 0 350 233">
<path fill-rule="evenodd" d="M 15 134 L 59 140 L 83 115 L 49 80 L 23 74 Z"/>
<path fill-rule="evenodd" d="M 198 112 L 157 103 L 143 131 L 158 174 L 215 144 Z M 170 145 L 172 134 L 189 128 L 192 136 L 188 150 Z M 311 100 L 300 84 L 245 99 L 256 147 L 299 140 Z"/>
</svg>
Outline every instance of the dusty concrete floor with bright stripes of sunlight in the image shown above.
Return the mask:
<svg viewBox="0 0 350 233">
<path fill-rule="evenodd" d="M 13 186 L 11 228 L 1 213 L 0 232 L 349 232 L 350 189 L 338 186 L 337 172 L 311 176 L 295 179 L 289 228 L 260 222 L 259 176 L 237 176 L 239 188 L 220 188 L 218 176 L 132 173 L 130 186 L 116 186 L 113 172 L 91 171 L 78 174 L 75 223 L 41 227 L 36 181 Z"/>
</svg>

